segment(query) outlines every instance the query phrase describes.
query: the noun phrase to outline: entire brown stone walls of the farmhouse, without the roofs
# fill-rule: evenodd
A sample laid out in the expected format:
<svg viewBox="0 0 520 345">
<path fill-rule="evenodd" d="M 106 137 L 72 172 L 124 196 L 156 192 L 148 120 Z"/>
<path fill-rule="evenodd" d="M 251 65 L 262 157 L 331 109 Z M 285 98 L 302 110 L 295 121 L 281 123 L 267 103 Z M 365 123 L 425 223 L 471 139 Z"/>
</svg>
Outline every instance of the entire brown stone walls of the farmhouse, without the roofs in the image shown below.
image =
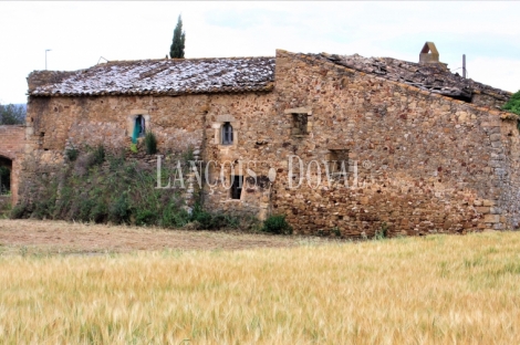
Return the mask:
<svg viewBox="0 0 520 345">
<path fill-rule="evenodd" d="M 128 148 L 144 115 L 160 154 L 191 147 L 208 165 L 209 185 L 199 172 L 209 210 L 285 215 L 297 233 L 346 237 L 512 229 L 517 122 L 486 97 L 477 106 L 278 51 L 269 93 L 30 97 L 23 176 L 60 166 L 65 147 Z M 220 137 L 227 123 L 231 145 Z M 333 159 L 345 160 L 346 180 L 325 174 L 341 167 Z M 231 172 L 243 177 L 239 199 Z"/>
</svg>

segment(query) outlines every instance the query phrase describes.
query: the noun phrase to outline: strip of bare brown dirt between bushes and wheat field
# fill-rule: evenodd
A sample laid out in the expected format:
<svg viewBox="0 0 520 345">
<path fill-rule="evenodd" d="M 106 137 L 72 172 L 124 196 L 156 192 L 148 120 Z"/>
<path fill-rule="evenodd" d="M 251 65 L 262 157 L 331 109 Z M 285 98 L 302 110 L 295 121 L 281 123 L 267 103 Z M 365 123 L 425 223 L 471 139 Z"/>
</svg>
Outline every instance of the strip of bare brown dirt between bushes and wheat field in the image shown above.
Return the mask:
<svg viewBox="0 0 520 345">
<path fill-rule="evenodd" d="M 239 250 L 298 245 L 301 237 L 164 230 L 42 220 L 0 220 L 0 253 L 103 253 L 138 250 Z M 306 239 L 308 241 L 309 239 Z M 320 241 L 320 240 L 316 240 Z"/>
</svg>

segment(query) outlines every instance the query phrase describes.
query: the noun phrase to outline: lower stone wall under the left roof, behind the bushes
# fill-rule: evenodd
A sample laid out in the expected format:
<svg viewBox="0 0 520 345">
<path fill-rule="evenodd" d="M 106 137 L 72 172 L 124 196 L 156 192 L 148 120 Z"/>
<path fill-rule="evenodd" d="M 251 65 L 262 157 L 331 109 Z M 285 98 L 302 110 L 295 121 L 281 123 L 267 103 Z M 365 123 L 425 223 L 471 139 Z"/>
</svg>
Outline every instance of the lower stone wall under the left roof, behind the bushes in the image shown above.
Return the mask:
<svg viewBox="0 0 520 345">
<path fill-rule="evenodd" d="M 178 155 L 193 149 L 196 159 L 214 160 L 208 169 L 208 180 L 220 179 L 222 170 L 227 182 L 217 181 L 215 188 L 206 188 L 204 192 L 202 199 L 208 209 L 266 216 L 268 199 L 262 198 L 267 192 L 264 185 L 245 191 L 241 201 L 231 200 L 226 186 L 230 178 L 229 163 L 252 153 L 262 155 L 262 148 L 256 147 L 258 137 L 268 135 L 266 119 L 271 116 L 272 106 L 272 94 L 262 92 L 175 97 L 30 97 L 23 176 L 25 181 L 31 181 L 39 174 L 54 171 L 64 161 L 67 147 L 85 149 L 86 146 L 103 144 L 107 150 L 128 149 L 133 118 L 141 114 L 146 116 L 147 129 L 157 137 L 158 154 Z M 216 130 L 220 133 L 216 126 L 228 121 L 233 124 L 235 145 L 216 144 Z M 143 156 L 142 160 L 156 163 L 155 157 Z M 164 166 L 175 164 L 166 159 L 162 161 Z M 199 174 L 205 174 L 204 168 Z M 243 172 L 237 170 L 237 174 Z M 175 177 L 171 176 L 171 179 Z M 205 180 L 202 177 L 202 182 Z"/>
</svg>

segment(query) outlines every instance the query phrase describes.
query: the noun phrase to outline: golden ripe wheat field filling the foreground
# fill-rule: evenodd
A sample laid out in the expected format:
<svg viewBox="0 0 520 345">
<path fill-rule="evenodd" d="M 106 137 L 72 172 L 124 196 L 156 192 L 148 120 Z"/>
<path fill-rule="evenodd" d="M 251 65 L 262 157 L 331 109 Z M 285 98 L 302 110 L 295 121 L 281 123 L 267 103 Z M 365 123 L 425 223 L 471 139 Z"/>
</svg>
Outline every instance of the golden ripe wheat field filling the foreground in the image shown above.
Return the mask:
<svg viewBox="0 0 520 345">
<path fill-rule="evenodd" d="M 0 257 L 2 344 L 519 344 L 520 233 Z"/>
</svg>

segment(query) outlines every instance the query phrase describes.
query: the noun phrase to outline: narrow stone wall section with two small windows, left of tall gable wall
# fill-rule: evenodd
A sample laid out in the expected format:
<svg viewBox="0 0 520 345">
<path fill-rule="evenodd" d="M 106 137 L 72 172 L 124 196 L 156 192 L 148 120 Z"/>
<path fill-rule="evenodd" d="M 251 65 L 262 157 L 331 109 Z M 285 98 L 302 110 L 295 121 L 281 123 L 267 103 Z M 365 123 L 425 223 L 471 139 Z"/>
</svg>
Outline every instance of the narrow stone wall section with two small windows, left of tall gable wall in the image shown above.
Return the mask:
<svg viewBox="0 0 520 345">
<path fill-rule="evenodd" d="M 278 160 L 272 150 L 272 143 L 279 140 L 272 130 L 273 106 L 272 93 L 211 96 L 204 155 L 206 161 L 214 161 L 208 169 L 211 187 L 205 186 L 205 203 L 210 208 L 232 215 L 267 217 L 270 185 L 261 177 L 269 170 L 266 164 L 262 167 L 262 161 Z M 233 128 L 232 145 L 221 145 L 219 133 L 226 122 Z M 232 199 L 229 189 L 231 170 L 247 178 L 248 168 L 258 174 L 257 181 L 245 180 L 240 199 Z"/>
</svg>

